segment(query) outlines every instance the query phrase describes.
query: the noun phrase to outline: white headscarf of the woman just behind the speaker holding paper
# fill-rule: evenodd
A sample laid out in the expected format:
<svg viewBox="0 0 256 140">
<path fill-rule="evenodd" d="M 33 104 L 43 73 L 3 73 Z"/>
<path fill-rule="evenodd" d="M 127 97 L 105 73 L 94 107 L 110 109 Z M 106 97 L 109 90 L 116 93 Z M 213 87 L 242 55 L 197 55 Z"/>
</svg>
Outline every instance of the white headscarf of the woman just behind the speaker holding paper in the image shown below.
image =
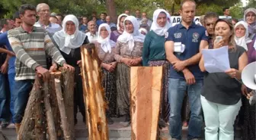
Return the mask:
<svg viewBox="0 0 256 140">
<path fill-rule="evenodd" d="M 251 39 L 249 38 L 249 32 L 248 32 L 248 23 L 246 23 L 245 21 L 239 21 L 238 23 L 235 24 L 235 28 L 238 25 L 242 25 L 242 26 L 245 27 L 245 36 L 242 36 L 242 37 L 239 37 L 239 38 L 235 36 L 235 43 L 237 45 L 242 46 L 243 48 L 245 48 L 246 51 L 248 51 L 247 44 L 249 42 L 251 42 Z"/>
</svg>

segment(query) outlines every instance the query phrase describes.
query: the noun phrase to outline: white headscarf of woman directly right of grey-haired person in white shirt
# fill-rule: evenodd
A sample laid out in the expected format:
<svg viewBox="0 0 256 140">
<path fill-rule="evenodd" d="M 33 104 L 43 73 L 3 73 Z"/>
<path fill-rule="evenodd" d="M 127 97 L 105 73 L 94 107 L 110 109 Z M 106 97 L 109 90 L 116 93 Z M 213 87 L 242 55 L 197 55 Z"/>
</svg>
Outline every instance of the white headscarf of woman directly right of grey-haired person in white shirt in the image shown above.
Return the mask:
<svg viewBox="0 0 256 140">
<path fill-rule="evenodd" d="M 101 27 L 105 27 L 108 32 L 108 36 L 105 39 L 101 37 Z M 110 33 L 111 33 L 110 26 L 107 23 L 101 23 L 101 25 L 98 28 L 98 33 L 99 33 L 99 36 L 97 41 L 101 43 L 101 48 L 103 49 L 104 52 L 108 51 L 109 53 L 111 53 L 111 48 L 116 45 L 116 42 L 110 40 Z"/>
</svg>

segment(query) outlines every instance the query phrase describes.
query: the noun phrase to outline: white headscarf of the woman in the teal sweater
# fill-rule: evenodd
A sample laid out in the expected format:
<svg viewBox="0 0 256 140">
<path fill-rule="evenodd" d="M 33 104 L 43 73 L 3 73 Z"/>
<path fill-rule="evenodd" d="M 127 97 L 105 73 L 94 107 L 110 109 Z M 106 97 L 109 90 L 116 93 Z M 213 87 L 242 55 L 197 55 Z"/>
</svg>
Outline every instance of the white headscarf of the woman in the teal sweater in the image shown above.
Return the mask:
<svg viewBox="0 0 256 140">
<path fill-rule="evenodd" d="M 158 23 L 157 23 L 158 15 L 161 12 L 165 12 L 165 14 L 166 14 L 167 21 L 166 21 L 164 27 L 159 26 Z M 153 23 L 152 23 L 152 26 L 151 26 L 150 30 L 154 31 L 158 36 L 165 36 L 165 33 L 167 32 L 167 30 L 170 27 L 171 27 L 171 16 L 170 16 L 170 14 L 168 14 L 168 12 L 165 11 L 164 9 L 155 10 L 154 14 L 153 14 Z"/>
</svg>

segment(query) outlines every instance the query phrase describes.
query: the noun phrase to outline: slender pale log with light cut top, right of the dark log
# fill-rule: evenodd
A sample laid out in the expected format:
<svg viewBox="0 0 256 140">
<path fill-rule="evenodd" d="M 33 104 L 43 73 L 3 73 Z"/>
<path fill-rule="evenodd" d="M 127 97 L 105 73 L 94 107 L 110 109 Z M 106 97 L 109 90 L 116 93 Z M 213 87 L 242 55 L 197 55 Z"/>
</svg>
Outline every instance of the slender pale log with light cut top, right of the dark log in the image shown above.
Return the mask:
<svg viewBox="0 0 256 140">
<path fill-rule="evenodd" d="M 59 105 L 59 114 L 60 114 L 60 118 L 61 118 L 64 138 L 65 138 L 65 140 L 71 140 L 69 123 L 68 123 L 68 119 L 66 117 L 66 109 L 65 109 L 65 104 L 63 101 L 63 96 L 62 96 L 61 82 L 58 78 L 55 79 L 55 87 L 56 87 L 56 95 L 57 95 L 57 101 L 58 101 L 58 105 Z"/>
</svg>

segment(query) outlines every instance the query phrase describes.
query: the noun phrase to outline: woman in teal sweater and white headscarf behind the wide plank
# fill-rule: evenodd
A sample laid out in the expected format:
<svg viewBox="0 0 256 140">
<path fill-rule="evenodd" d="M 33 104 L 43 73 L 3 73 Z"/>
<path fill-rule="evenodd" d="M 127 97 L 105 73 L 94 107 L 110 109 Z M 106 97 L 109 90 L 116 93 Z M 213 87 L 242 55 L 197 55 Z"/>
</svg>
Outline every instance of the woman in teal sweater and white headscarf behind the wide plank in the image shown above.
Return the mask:
<svg viewBox="0 0 256 140">
<path fill-rule="evenodd" d="M 171 17 L 164 9 L 157 9 L 153 14 L 153 23 L 150 32 L 146 34 L 143 44 L 143 66 L 165 67 L 165 78 L 162 87 L 162 110 L 161 118 L 168 122 L 170 107 L 168 104 L 168 67 L 169 63 L 165 56 L 165 33 L 171 27 Z"/>
</svg>

